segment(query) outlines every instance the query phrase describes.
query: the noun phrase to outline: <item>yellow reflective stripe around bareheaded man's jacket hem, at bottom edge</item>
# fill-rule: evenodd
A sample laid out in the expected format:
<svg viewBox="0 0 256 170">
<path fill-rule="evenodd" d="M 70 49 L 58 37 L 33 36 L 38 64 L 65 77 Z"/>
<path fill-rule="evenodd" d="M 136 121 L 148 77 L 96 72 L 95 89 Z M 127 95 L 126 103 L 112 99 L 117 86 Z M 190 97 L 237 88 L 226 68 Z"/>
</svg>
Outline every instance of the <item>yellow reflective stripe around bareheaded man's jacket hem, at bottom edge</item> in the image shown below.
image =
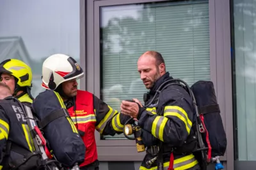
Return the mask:
<svg viewBox="0 0 256 170">
<path fill-rule="evenodd" d="M 195 159 L 195 156 L 193 154 L 175 159 L 173 161 L 173 169 L 174 170 L 183 170 L 183 169 L 189 169 L 193 166 L 198 164 L 198 161 Z M 170 162 L 164 162 L 163 167 L 164 170 L 167 170 L 170 165 Z M 157 166 L 151 167 L 150 169 L 140 166 L 140 170 L 157 170 Z"/>
</svg>

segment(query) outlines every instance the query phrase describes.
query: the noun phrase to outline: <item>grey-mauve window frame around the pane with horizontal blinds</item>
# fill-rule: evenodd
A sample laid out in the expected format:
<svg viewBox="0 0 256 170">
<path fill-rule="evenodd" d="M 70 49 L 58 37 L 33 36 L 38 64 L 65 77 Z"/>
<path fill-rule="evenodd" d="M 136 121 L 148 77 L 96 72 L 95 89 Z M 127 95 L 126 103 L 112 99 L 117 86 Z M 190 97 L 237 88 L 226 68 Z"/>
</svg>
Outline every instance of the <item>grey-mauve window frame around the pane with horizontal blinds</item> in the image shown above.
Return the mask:
<svg viewBox="0 0 256 170">
<path fill-rule="evenodd" d="M 81 89 L 86 89 L 100 97 L 100 7 L 164 1 L 166 0 L 88 0 L 86 2 L 80 0 L 80 59 L 81 65 L 86 68 L 84 69 L 85 79 L 81 81 Z M 228 139 L 227 151 L 221 160 L 228 160 L 228 169 L 234 169 L 229 3 L 229 0 L 209 1 L 210 72 Z M 84 15 L 86 15 L 85 19 Z M 100 140 L 100 134 L 97 131 L 95 131 L 95 139 L 100 161 L 141 161 L 145 155 L 145 152 L 136 151 L 135 141 Z"/>
</svg>

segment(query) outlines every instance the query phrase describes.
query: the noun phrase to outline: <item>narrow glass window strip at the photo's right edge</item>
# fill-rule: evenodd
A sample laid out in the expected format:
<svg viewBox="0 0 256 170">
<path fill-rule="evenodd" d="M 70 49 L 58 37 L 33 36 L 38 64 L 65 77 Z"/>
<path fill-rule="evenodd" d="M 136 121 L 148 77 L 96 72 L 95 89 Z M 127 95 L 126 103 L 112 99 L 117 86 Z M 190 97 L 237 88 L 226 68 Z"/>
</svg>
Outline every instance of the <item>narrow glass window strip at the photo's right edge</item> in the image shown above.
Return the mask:
<svg viewBox="0 0 256 170">
<path fill-rule="evenodd" d="M 256 1 L 234 0 L 236 160 L 256 160 Z"/>
</svg>

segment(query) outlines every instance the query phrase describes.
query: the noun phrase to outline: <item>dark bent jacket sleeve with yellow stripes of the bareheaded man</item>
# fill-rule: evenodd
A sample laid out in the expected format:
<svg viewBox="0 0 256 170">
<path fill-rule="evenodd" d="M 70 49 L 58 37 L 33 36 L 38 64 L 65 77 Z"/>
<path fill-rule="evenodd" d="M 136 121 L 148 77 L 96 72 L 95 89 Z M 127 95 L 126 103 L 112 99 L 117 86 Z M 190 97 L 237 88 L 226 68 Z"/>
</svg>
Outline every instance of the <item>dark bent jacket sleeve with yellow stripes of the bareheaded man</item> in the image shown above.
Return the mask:
<svg viewBox="0 0 256 170">
<path fill-rule="evenodd" d="M 159 95 L 162 114 L 141 109 L 138 125 L 164 143 L 180 146 L 188 138 L 194 119 L 192 100 L 179 86 L 170 86 Z"/>
</svg>

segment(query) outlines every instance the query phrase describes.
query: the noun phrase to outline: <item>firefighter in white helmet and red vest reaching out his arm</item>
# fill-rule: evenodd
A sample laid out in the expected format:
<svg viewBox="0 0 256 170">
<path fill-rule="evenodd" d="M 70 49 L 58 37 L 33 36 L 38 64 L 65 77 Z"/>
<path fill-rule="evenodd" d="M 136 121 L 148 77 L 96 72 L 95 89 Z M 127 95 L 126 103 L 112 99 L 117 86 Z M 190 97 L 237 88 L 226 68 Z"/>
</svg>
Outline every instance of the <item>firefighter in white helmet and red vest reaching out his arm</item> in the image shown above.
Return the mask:
<svg viewBox="0 0 256 170">
<path fill-rule="evenodd" d="M 58 92 L 86 146 L 84 162 L 80 169 L 99 169 L 95 129 L 102 135 L 123 132 L 129 116 L 118 113 L 108 104 L 88 91 L 77 89 L 77 79 L 84 76 L 75 59 L 64 54 L 54 54 L 45 59 L 42 68 L 42 87 Z"/>
</svg>

